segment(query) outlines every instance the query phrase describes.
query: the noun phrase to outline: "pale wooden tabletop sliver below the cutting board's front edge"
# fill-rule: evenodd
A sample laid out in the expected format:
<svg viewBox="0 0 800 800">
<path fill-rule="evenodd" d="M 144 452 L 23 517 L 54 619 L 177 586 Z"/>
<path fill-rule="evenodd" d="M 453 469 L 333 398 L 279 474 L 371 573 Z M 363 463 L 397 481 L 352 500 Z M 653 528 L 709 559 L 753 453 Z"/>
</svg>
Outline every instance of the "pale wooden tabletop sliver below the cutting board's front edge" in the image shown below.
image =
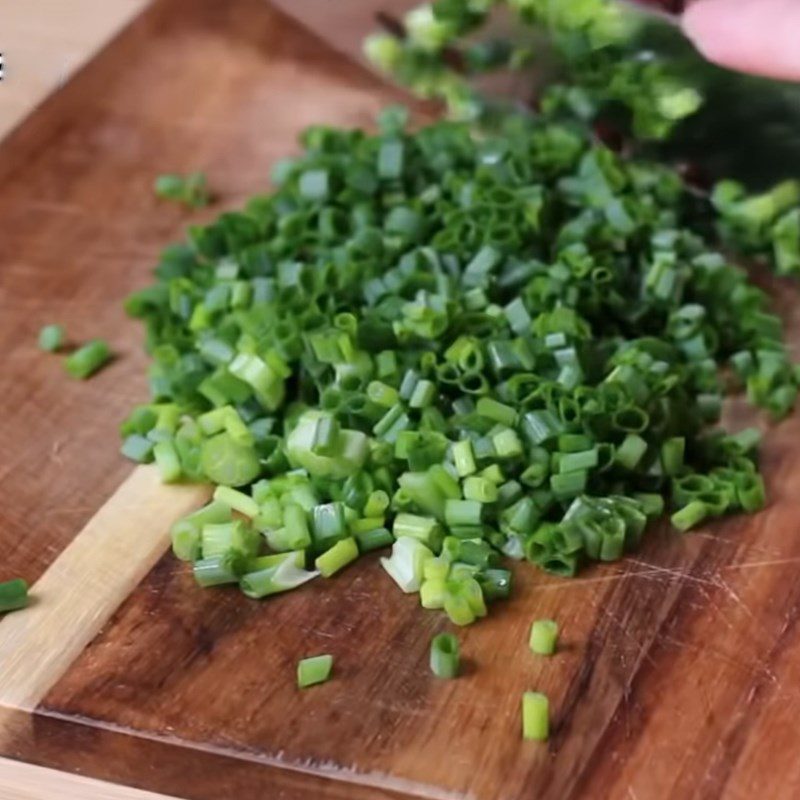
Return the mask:
<svg viewBox="0 0 800 800">
<path fill-rule="evenodd" d="M 0 798 L 14 800 L 177 800 L 130 786 L 0 758 Z"/>
</svg>

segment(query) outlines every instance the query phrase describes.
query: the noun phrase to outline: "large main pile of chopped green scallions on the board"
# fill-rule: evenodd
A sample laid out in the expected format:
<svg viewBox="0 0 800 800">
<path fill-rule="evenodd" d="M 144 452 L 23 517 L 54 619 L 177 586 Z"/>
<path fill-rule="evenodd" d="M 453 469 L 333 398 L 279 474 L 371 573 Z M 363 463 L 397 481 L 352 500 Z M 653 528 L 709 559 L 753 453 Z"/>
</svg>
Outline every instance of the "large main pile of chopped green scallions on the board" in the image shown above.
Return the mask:
<svg viewBox="0 0 800 800">
<path fill-rule="evenodd" d="M 784 416 L 798 373 L 676 172 L 546 114 L 379 128 L 307 130 L 127 302 L 152 401 L 123 452 L 217 486 L 172 531 L 198 582 L 264 597 L 386 548 L 464 625 L 508 559 L 572 576 L 665 509 L 763 506 L 757 434 L 716 423 L 739 387 Z"/>
</svg>

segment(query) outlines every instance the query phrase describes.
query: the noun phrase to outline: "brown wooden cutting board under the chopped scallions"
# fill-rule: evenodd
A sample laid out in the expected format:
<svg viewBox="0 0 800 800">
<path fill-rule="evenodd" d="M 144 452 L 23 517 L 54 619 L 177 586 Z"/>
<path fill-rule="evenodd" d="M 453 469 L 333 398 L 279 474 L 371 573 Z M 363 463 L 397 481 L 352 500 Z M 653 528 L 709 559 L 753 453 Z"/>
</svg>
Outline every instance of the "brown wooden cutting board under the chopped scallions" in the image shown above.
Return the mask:
<svg viewBox="0 0 800 800">
<path fill-rule="evenodd" d="M 194 219 L 153 176 L 205 168 L 236 207 L 304 126 L 369 125 L 398 96 L 262 0 L 158 0 L 0 147 L 0 579 L 36 582 L 0 622 L 0 754 L 193 800 L 800 796 L 796 419 L 767 437 L 766 511 L 656 530 L 571 581 L 522 565 L 461 632 L 456 681 L 426 664 L 446 621 L 374 559 L 254 602 L 166 553 L 206 490 L 132 470 L 116 438 L 145 397 L 122 298 Z M 117 361 L 68 380 L 36 349 L 51 321 Z M 536 659 L 550 616 L 563 647 Z M 318 652 L 335 679 L 300 692 Z M 546 745 L 521 741 L 527 689 L 551 698 Z"/>
</svg>

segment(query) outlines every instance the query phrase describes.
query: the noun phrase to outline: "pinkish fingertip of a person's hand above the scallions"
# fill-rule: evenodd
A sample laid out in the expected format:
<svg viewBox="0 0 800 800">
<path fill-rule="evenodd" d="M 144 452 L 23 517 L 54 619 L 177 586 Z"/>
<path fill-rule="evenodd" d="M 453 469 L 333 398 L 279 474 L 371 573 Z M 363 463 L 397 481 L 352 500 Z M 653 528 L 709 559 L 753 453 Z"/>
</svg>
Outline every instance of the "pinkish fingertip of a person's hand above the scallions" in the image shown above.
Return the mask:
<svg viewBox="0 0 800 800">
<path fill-rule="evenodd" d="M 715 64 L 800 80 L 800 0 L 697 0 L 682 24 Z"/>
</svg>

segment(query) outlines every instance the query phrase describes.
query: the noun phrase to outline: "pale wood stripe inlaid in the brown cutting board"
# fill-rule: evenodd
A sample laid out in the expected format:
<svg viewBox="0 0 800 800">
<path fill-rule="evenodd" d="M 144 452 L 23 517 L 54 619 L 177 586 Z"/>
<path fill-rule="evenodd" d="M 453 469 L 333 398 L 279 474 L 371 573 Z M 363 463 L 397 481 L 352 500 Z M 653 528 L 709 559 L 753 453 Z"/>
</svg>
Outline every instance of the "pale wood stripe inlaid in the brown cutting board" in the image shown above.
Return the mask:
<svg viewBox="0 0 800 800">
<path fill-rule="evenodd" d="M 31 605 L 0 622 L 0 705 L 35 709 L 164 554 L 170 525 L 209 494 L 133 470 L 34 584 Z"/>
</svg>

